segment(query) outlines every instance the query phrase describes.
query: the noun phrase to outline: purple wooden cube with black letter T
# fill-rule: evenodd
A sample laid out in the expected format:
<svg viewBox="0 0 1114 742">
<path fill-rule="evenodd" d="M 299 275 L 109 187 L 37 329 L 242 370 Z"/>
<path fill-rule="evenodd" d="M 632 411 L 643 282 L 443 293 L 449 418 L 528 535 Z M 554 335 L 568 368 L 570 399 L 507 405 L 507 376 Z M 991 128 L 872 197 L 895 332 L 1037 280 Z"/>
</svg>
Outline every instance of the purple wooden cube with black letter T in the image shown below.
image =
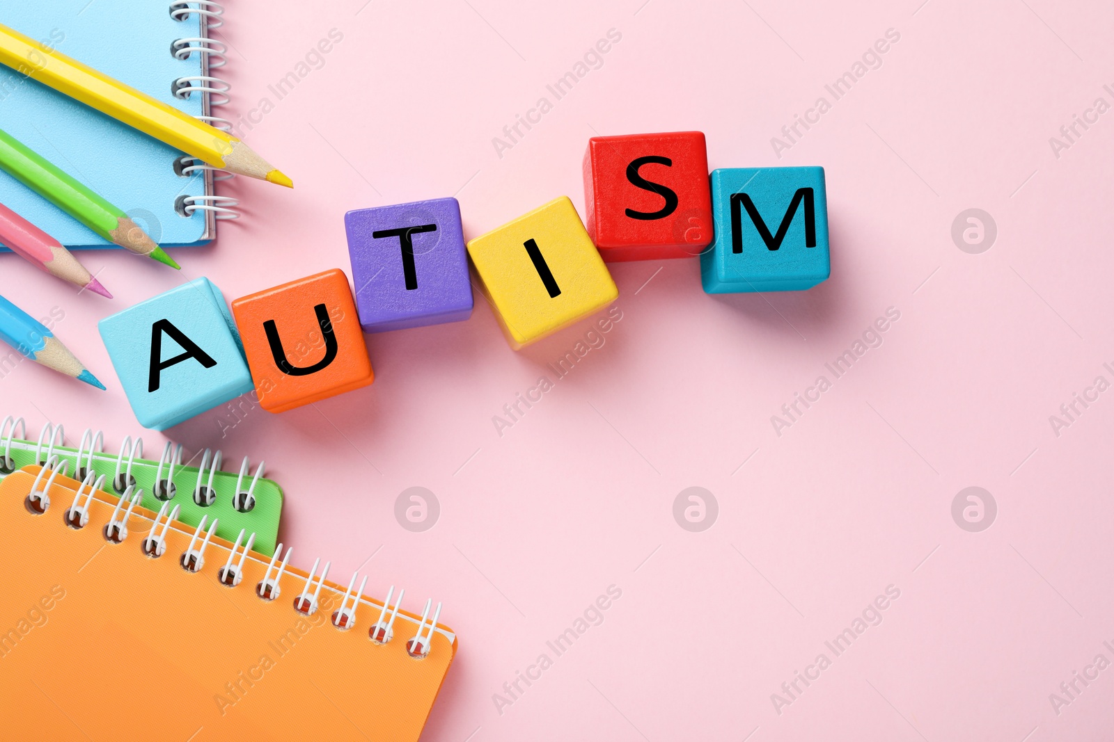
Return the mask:
<svg viewBox="0 0 1114 742">
<path fill-rule="evenodd" d="M 455 198 L 344 215 L 352 281 L 365 333 L 462 321 L 472 285 Z"/>
</svg>

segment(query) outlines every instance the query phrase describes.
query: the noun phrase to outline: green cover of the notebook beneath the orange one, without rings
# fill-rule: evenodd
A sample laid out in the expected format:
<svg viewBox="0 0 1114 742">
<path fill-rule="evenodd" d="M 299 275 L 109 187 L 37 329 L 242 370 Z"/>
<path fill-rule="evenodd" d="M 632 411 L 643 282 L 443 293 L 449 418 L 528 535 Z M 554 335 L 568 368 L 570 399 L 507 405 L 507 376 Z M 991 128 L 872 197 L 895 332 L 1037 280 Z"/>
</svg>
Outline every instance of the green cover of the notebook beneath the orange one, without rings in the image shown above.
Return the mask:
<svg viewBox="0 0 1114 742">
<path fill-rule="evenodd" d="M 7 443 L 7 439 L 4 439 Z M 4 447 L 0 446 L 0 453 Z M 35 453 L 39 451 L 39 444 L 33 441 L 14 439 L 11 443 L 11 457 L 16 462 L 17 469 L 31 464 L 35 461 Z M 47 445 L 42 445 L 42 454 L 47 453 Z M 77 451 L 63 446 L 55 446 L 50 453 L 57 454 L 59 462 L 67 462 L 67 472 L 72 475 L 77 472 Z M 88 449 L 81 454 L 81 464 L 85 465 Z M 113 489 L 113 477 L 116 473 L 116 462 L 119 457 L 107 453 L 95 453 L 92 455 L 92 468 L 97 476 L 105 475 L 104 488 L 106 492 Z M 59 466 L 61 464 L 59 463 Z M 126 471 L 127 462 L 121 465 L 121 473 Z M 213 489 L 216 491 L 216 499 L 212 505 L 203 507 L 194 502 L 194 488 L 197 486 L 197 467 L 175 466 L 174 467 L 174 497 L 170 498 L 170 511 L 175 505 L 180 507 L 178 520 L 187 525 L 196 526 L 203 516 L 208 516 L 209 522 L 217 518 L 216 534 L 229 541 L 235 541 L 241 528 L 246 528 L 248 533 L 255 533 L 254 551 L 266 554 L 267 557 L 274 553 L 278 543 L 278 521 L 282 516 L 283 492 L 273 481 L 260 477 L 252 493 L 255 497 L 255 507 L 246 513 L 241 513 L 233 505 L 233 497 L 236 495 L 236 481 L 240 478 L 238 468 L 236 472 L 217 472 L 213 477 Z M 135 477 L 136 488 L 143 489 L 143 501 L 140 504 L 148 509 L 158 512 L 163 506 L 163 501 L 155 496 L 155 479 L 158 474 L 158 462 L 136 458 L 131 466 L 131 476 Z M 168 467 L 163 467 L 163 478 L 166 478 Z M 0 471 L 0 479 L 4 476 Z M 208 471 L 205 472 L 203 485 L 208 485 Z M 244 477 L 244 488 L 251 484 L 248 477 Z M 68 503 L 67 503 L 68 505 Z M 206 526 L 207 527 L 207 526 Z"/>
</svg>

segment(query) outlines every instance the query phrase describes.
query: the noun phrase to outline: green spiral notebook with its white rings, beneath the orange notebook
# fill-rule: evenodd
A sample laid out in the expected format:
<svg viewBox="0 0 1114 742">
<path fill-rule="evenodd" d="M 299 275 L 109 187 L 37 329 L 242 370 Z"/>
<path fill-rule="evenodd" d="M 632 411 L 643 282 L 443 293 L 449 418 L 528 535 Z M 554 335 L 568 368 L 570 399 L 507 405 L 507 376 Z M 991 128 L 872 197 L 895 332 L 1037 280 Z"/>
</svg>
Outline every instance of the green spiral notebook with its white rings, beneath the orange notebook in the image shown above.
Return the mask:
<svg viewBox="0 0 1114 742">
<path fill-rule="evenodd" d="M 0 479 L 29 464 L 53 458 L 57 466 L 51 468 L 66 466 L 68 476 L 89 486 L 116 495 L 128 487 L 133 495 L 141 491 L 138 504 L 147 509 L 158 512 L 166 504 L 169 512 L 177 506 L 178 521 L 197 526 L 206 517 L 206 531 L 216 518 L 216 535 L 235 541 L 243 528 L 255 533 L 252 551 L 267 556 L 274 553 L 283 493 L 275 482 L 263 477 L 263 462 L 254 474 L 246 458 L 238 473 L 223 472 L 221 452 L 205 449 L 195 455 L 198 466 L 185 466 L 182 446 L 169 443 L 160 461 L 150 461 L 143 457 L 141 438 L 125 438 L 120 453 L 109 454 L 101 451 L 101 434 L 91 429 L 85 432 L 77 448 L 65 442 L 60 425 L 47 425 L 37 441 L 28 439 L 23 418 L 9 415 L 0 423 Z"/>
</svg>

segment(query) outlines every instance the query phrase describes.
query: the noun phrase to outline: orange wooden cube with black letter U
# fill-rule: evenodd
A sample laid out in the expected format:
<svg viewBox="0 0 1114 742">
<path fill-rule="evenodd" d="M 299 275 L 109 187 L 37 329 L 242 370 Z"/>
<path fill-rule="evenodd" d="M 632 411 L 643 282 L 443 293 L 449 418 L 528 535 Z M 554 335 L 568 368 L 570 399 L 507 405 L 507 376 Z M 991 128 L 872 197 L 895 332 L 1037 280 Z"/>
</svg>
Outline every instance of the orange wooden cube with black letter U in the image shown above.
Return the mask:
<svg viewBox="0 0 1114 742">
<path fill-rule="evenodd" d="M 375 376 L 340 268 L 232 303 L 260 406 L 282 413 L 368 386 Z"/>
</svg>

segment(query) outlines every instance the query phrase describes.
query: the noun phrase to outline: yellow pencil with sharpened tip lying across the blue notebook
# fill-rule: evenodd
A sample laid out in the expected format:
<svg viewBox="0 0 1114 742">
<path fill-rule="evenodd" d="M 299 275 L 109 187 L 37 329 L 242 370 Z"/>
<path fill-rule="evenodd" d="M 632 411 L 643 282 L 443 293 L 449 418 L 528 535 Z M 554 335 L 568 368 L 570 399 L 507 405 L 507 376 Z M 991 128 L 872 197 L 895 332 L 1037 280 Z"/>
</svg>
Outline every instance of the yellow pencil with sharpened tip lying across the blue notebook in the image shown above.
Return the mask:
<svg viewBox="0 0 1114 742">
<path fill-rule="evenodd" d="M 240 139 L 0 24 L 0 63 L 214 167 L 293 188 Z"/>
</svg>

